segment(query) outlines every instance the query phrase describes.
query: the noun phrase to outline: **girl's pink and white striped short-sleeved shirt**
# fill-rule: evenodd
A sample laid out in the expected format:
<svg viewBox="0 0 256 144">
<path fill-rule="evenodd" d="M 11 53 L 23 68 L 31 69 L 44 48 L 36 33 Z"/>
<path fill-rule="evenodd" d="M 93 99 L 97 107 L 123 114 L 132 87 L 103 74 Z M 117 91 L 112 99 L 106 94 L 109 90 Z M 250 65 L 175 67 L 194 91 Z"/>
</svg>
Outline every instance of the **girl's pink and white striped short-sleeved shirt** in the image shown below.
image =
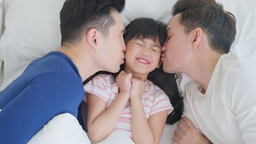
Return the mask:
<svg viewBox="0 0 256 144">
<path fill-rule="evenodd" d="M 86 95 L 91 93 L 102 98 L 107 103 L 107 108 L 118 95 L 118 85 L 112 75 L 97 75 L 84 86 L 84 89 L 85 97 L 83 101 L 87 102 Z M 149 80 L 146 81 L 145 91 L 141 95 L 141 101 L 147 119 L 160 111 L 169 110 L 168 115 L 173 111 L 171 102 L 164 91 Z M 114 131 L 123 132 L 132 139 L 130 100 L 127 102 Z"/>
</svg>

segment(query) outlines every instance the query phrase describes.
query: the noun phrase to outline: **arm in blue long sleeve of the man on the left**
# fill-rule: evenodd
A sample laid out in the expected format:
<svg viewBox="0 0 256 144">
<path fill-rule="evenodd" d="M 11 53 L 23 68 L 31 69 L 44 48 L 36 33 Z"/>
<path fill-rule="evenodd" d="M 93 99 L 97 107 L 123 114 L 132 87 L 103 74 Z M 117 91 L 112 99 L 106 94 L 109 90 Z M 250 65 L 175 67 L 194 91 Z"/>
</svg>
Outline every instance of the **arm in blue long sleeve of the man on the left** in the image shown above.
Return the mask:
<svg viewBox="0 0 256 144">
<path fill-rule="evenodd" d="M 0 112 L 1 143 L 25 144 L 54 116 L 75 116 L 83 94 L 82 81 L 71 73 L 36 76 Z"/>
</svg>

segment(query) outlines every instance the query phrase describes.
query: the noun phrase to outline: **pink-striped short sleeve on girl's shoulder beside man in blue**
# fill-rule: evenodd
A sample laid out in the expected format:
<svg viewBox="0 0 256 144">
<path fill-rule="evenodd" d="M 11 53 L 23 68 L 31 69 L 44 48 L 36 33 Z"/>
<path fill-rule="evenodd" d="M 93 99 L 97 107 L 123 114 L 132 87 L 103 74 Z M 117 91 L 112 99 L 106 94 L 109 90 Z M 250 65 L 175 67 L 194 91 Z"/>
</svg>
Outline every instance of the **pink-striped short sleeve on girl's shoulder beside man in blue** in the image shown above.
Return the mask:
<svg viewBox="0 0 256 144">
<path fill-rule="evenodd" d="M 105 75 L 97 75 L 91 81 L 84 85 L 85 96 L 83 101 L 87 102 L 86 96 L 88 93 L 96 95 L 102 98 L 105 102 L 108 102 L 110 95 L 108 94 L 108 85 L 105 79 Z"/>
</svg>

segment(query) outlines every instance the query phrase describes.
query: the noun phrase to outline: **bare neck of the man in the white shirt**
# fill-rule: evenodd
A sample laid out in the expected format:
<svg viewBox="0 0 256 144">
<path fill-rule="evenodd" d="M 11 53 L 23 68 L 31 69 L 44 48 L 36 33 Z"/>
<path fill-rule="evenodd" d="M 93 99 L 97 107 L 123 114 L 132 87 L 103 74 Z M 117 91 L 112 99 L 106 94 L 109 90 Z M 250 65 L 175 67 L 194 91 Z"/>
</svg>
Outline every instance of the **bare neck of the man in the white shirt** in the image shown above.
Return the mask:
<svg viewBox="0 0 256 144">
<path fill-rule="evenodd" d="M 185 73 L 189 75 L 191 79 L 202 85 L 204 91 L 207 91 L 213 71 L 222 55 L 223 54 L 213 54 L 203 59 L 197 59 L 196 62 L 194 62 L 195 65 L 191 65 Z"/>
</svg>

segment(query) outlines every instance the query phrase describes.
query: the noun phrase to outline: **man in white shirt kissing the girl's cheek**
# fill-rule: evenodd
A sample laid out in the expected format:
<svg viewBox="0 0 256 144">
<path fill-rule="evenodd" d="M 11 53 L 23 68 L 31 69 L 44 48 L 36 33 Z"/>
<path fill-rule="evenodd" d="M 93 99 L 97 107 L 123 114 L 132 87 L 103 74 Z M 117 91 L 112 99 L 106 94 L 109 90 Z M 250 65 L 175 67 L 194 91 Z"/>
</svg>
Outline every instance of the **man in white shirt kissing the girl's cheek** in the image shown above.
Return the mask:
<svg viewBox="0 0 256 144">
<path fill-rule="evenodd" d="M 256 56 L 230 51 L 236 20 L 215 0 L 178 0 L 161 60 L 194 82 L 184 96 L 177 144 L 256 143 Z"/>
</svg>

